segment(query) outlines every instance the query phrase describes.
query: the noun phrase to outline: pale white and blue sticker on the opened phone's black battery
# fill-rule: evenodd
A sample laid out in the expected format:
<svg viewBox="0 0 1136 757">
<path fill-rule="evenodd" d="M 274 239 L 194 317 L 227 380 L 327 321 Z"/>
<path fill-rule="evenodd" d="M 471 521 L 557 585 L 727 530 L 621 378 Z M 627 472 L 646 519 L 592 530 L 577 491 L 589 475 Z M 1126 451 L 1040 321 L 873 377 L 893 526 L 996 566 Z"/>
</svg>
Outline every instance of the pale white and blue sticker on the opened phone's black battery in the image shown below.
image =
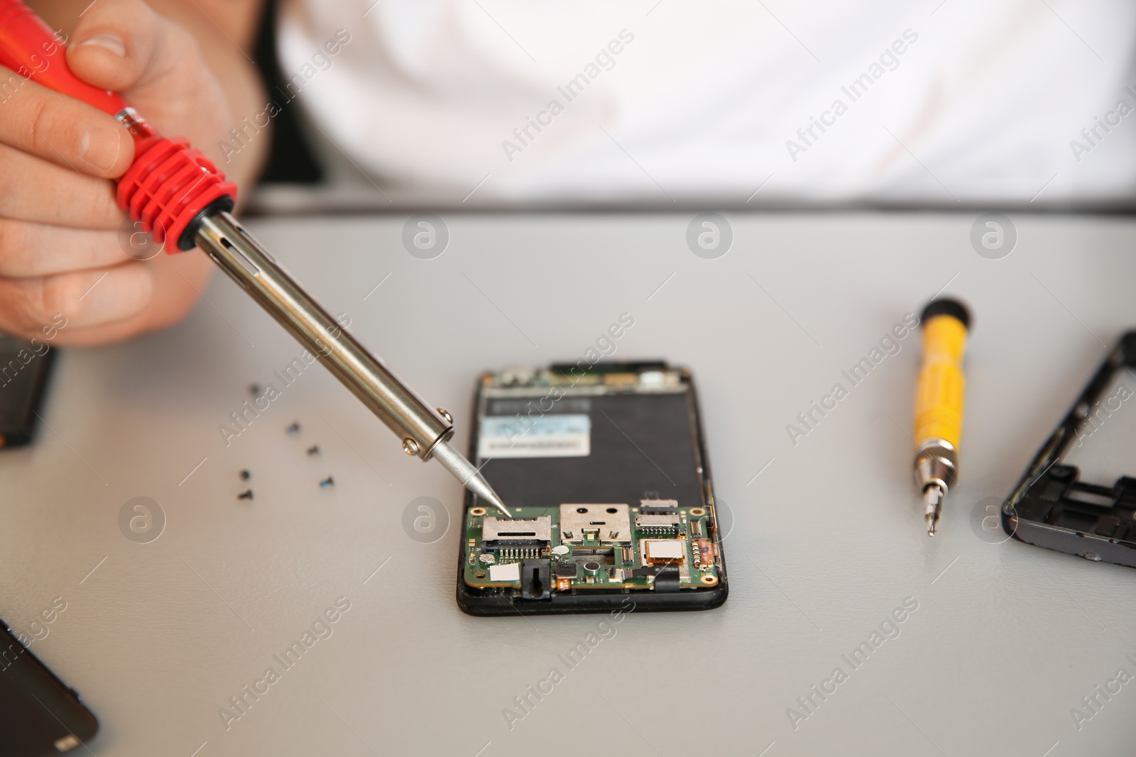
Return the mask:
<svg viewBox="0 0 1136 757">
<path fill-rule="evenodd" d="M 477 456 L 587 457 L 592 419 L 583 413 L 518 418 L 486 415 L 477 438 Z"/>
</svg>

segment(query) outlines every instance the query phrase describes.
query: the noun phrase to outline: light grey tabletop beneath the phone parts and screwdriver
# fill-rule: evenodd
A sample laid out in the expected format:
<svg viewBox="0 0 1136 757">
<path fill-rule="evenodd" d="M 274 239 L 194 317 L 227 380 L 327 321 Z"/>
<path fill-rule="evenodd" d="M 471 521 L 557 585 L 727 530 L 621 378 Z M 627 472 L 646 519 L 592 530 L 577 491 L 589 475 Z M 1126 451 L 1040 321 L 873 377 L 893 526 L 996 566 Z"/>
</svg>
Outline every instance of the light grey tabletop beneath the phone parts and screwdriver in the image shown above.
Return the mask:
<svg viewBox="0 0 1136 757">
<path fill-rule="evenodd" d="M 734 213 L 732 247 L 707 260 L 691 218 L 450 215 L 432 260 L 403 249 L 404 216 L 251 228 L 453 411 L 462 445 L 482 370 L 578 359 L 630 313 L 615 356 L 688 365 L 701 389 L 733 519 L 729 599 L 711 612 L 463 615 L 456 529 L 421 544 L 402 527 L 421 496 L 457 518 L 458 485 L 321 368 L 226 446 L 218 426 L 249 385 L 300 348 L 223 276 L 172 330 L 62 351 L 48 427 L 0 455 L 0 614 L 31 636 L 66 603 L 32 650 L 99 716 L 89 751 L 1131 754 L 1136 684 L 1109 682 L 1136 674 L 1136 572 L 980 524 L 1136 323 L 1136 222 L 1016 216 L 1016 247 L 991 260 L 969 241 L 976 213 Z M 918 336 L 795 445 L 786 426 L 941 289 L 975 327 L 962 482 L 928 539 L 910 478 Z M 119 528 L 140 496 L 165 514 L 148 544 Z M 326 638 L 279 665 L 340 597 L 331 636 L 317 625 Z M 904 603 L 917 609 L 885 623 Z M 850 665 L 882 625 L 891 638 Z M 234 709 L 269 667 L 278 680 Z M 552 668 L 551 691 L 528 695 Z M 1120 691 L 1087 709 L 1097 685 Z"/>
</svg>

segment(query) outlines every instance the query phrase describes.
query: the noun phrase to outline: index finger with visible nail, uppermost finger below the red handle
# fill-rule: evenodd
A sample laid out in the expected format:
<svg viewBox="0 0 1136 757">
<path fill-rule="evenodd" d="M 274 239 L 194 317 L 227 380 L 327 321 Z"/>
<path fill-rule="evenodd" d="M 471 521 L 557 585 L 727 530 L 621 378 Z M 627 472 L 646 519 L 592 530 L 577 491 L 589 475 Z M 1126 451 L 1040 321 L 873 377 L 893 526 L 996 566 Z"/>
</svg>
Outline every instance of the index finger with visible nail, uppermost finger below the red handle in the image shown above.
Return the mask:
<svg viewBox="0 0 1136 757">
<path fill-rule="evenodd" d="M 0 142 L 91 176 L 120 176 L 134 160 L 122 124 L 98 108 L 0 66 Z"/>
</svg>

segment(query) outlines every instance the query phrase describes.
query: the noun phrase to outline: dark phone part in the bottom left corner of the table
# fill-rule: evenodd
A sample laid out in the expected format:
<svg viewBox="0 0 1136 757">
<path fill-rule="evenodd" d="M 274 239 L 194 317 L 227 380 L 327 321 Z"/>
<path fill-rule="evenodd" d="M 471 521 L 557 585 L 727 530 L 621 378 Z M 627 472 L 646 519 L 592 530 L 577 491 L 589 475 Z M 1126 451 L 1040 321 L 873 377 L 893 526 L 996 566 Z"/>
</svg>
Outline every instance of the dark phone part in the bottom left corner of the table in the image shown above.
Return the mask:
<svg viewBox="0 0 1136 757">
<path fill-rule="evenodd" d="M 85 746 L 99 721 L 0 621 L 0 751 L 43 757 Z"/>
</svg>

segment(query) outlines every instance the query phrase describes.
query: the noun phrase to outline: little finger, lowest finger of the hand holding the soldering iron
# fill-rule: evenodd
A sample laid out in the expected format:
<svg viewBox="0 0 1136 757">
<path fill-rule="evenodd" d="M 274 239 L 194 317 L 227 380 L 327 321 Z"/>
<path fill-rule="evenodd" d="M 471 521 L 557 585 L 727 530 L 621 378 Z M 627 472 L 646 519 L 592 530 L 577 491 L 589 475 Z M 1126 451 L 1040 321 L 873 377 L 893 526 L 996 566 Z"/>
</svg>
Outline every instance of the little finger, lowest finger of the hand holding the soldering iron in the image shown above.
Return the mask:
<svg viewBox="0 0 1136 757">
<path fill-rule="evenodd" d="M 0 330 L 30 334 L 57 314 L 68 327 L 126 320 L 153 296 L 149 266 L 132 261 L 105 270 L 72 271 L 24 279 L 0 279 Z"/>
</svg>

